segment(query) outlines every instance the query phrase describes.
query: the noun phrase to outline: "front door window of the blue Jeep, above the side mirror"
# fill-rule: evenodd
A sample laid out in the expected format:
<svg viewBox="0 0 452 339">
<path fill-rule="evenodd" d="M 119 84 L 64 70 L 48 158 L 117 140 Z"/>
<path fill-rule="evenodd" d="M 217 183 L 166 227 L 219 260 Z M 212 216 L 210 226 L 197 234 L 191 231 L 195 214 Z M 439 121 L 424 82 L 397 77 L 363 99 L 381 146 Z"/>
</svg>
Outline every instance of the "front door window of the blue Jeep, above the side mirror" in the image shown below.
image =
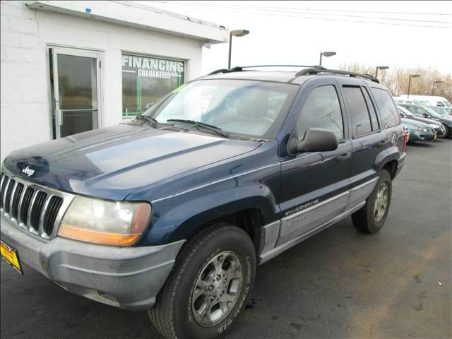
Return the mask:
<svg viewBox="0 0 452 339">
<path fill-rule="evenodd" d="M 344 138 L 338 93 L 333 85 L 316 88 L 304 102 L 297 120 L 298 138 L 304 138 L 304 133 L 311 127 L 329 129 L 335 133 L 338 140 Z"/>
</svg>

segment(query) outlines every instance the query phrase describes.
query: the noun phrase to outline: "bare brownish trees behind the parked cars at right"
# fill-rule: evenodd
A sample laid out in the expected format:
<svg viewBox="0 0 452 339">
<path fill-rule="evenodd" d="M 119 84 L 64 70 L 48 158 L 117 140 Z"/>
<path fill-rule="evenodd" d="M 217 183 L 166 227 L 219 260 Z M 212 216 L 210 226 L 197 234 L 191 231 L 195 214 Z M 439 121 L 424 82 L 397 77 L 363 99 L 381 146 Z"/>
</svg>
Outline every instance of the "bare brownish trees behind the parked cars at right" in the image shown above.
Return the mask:
<svg viewBox="0 0 452 339">
<path fill-rule="evenodd" d="M 359 63 L 340 64 L 340 70 L 350 71 L 375 76 L 376 66 L 363 65 Z M 446 97 L 452 102 L 452 76 L 451 74 L 441 74 L 433 68 L 393 68 L 382 69 L 378 71 L 380 83 L 385 85 L 394 97 L 408 94 L 408 83 L 410 75 L 419 75 L 417 78 L 411 78 L 410 95 L 433 95 Z M 436 82 L 434 84 L 434 81 Z M 438 83 L 441 81 L 441 83 Z M 434 88 L 433 88 L 434 86 Z"/>
</svg>

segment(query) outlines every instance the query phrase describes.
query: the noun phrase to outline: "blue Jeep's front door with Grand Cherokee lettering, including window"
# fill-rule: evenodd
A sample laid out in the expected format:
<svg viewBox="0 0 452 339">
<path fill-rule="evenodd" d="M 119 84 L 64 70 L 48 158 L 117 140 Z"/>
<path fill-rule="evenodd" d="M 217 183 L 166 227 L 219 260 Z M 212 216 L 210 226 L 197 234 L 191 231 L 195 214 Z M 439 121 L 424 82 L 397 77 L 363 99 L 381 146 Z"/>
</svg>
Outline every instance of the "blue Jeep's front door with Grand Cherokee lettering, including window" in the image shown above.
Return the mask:
<svg viewBox="0 0 452 339">
<path fill-rule="evenodd" d="M 316 79 L 309 86 L 294 133 L 302 139 L 309 128 L 329 129 L 339 145 L 330 152 L 299 153 L 282 160 L 277 246 L 319 227 L 347 206 L 352 145 L 347 138 L 345 107 L 334 80 Z"/>
</svg>

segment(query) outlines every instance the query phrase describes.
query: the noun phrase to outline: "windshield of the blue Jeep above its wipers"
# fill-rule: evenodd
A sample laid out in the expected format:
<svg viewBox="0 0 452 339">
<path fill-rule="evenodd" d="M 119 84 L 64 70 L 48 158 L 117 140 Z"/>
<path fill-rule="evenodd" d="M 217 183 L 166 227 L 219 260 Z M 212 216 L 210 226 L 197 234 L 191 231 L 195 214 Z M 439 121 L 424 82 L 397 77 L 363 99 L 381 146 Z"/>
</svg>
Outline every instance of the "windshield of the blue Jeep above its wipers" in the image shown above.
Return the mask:
<svg viewBox="0 0 452 339">
<path fill-rule="evenodd" d="M 143 115 L 159 124 L 198 121 L 230 136 L 270 140 L 282 126 L 297 90 L 297 85 L 287 83 L 200 80 L 177 88 Z"/>
</svg>

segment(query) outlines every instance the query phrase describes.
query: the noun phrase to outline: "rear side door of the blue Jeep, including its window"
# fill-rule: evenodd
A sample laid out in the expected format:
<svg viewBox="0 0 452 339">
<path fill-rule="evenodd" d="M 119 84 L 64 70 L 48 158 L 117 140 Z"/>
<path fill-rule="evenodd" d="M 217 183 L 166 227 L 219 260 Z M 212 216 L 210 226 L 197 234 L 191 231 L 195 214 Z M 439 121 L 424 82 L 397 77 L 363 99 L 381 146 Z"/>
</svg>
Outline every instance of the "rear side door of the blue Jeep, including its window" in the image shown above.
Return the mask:
<svg viewBox="0 0 452 339">
<path fill-rule="evenodd" d="M 364 81 L 340 79 L 340 87 L 345 105 L 350 115 L 350 136 L 352 138 L 352 188 L 364 184 L 362 192 L 367 192 L 366 183 L 371 185 L 376 181 L 376 160 L 380 153 L 389 147 L 386 132 L 376 114 L 376 107 L 369 94 L 369 88 Z M 364 193 L 363 193 L 364 194 Z M 361 203 L 365 200 L 359 194 L 354 195 Z M 367 198 L 367 197 L 366 197 Z M 360 200 L 360 201 L 358 201 Z M 352 206 L 350 206 L 352 207 Z"/>
</svg>

